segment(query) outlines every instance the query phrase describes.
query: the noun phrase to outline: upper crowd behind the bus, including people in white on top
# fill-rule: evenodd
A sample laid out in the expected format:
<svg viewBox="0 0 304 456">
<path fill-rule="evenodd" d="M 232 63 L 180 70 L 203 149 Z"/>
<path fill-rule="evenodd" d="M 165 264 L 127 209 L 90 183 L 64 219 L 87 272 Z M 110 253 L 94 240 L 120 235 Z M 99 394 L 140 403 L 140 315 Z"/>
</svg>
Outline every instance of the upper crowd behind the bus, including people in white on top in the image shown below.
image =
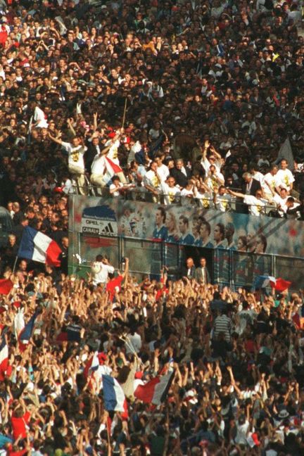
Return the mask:
<svg viewBox="0 0 304 456">
<path fill-rule="evenodd" d="M 232 189 L 302 217 L 302 1 L 1 7 L 3 205 L 57 189 L 227 210 Z"/>
</svg>

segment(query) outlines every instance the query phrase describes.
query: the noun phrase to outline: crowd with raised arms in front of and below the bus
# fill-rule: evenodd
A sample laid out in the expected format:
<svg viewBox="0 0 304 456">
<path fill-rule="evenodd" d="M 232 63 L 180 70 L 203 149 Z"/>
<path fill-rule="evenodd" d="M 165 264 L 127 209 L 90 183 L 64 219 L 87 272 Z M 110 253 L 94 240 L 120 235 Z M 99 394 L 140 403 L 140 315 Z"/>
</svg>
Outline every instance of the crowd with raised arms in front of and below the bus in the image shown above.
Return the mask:
<svg viewBox="0 0 304 456">
<path fill-rule="evenodd" d="M 209 283 L 205 259 L 184 277 L 137 281 L 98 255 L 87 279 L 30 270 L 1 298 L 1 454 L 302 455 L 303 296 Z M 36 312 L 28 345 L 18 319 Z M 98 353 L 99 367 L 89 368 Z M 139 384 L 172 372 L 158 407 Z M 105 409 L 114 376 L 125 412 Z"/>
</svg>

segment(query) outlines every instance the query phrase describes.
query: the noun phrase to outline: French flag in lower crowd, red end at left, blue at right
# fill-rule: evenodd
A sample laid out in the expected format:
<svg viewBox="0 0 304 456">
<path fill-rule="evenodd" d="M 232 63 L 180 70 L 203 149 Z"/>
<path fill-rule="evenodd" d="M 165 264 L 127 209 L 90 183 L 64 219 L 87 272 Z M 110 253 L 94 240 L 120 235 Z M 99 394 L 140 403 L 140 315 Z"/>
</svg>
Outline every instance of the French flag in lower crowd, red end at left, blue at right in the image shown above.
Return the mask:
<svg viewBox="0 0 304 456">
<path fill-rule="evenodd" d="M 134 391 L 135 398 L 145 404 L 160 405 L 163 403 L 169 391 L 175 372 L 156 376 L 144 385 L 137 386 Z"/>
</svg>

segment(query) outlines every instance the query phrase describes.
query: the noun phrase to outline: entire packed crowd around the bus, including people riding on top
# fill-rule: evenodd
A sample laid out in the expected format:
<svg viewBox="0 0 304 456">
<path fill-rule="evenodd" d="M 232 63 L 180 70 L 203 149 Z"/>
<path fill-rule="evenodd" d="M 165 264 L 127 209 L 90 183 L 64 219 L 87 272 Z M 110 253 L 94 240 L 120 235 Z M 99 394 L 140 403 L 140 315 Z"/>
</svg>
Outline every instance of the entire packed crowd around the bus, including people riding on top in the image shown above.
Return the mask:
<svg viewBox="0 0 304 456">
<path fill-rule="evenodd" d="M 68 276 L 70 194 L 303 219 L 302 6 L 0 0 L 1 455 L 303 455 L 301 291 L 221 288 L 203 259 L 176 281 L 104 256 Z M 60 268 L 15 264 L 27 226 Z M 134 397 L 167 372 L 162 405 Z"/>
</svg>

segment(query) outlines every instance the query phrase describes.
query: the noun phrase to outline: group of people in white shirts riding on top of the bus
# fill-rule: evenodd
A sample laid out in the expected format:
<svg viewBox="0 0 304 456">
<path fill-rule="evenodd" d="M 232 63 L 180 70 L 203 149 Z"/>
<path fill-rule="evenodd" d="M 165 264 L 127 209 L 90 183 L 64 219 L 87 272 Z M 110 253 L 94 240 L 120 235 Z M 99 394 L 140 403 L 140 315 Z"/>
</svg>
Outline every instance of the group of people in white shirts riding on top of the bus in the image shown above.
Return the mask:
<svg viewBox="0 0 304 456">
<path fill-rule="evenodd" d="M 49 137 L 68 152 L 68 167 L 75 179 L 77 192 L 86 194 L 84 153 L 87 146 L 84 141 L 74 137 L 71 143 L 68 143 L 62 141 L 61 137 L 52 137 L 51 134 Z M 231 210 L 236 198 L 241 198 L 243 203 L 248 205 L 248 212 L 255 216 L 273 209 L 277 210 L 278 215 L 284 216 L 289 208 L 299 205 L 295 198 L 297 194 L 293 191 L 295 177 L 285 159 L 281 160 L 279 165 L 272 165 L 265 175 L 255 169 L 244 172 L 243 191 L 240 192 L 234 191 L 231 186 L 225 186 L 222 172 L 225 159 L 208 141 L 205 141 L 201 148 L 201 166 L 205 177 L 196 173 L 190 163 L 184 163 L 182 158 L 173 160 L 163 150 L 156 153 L 151 160 L 146 155 L 145 165 L 128 158 L 129 172 L 125 173 L 118 158 L 118 148 L 125 141 L 123 129 L 115 132 L 103 146 L 99 145 L 98 132 L 94 132 L 89 141 L 96 147 L 89 178 L 96 188 L 96 194 L 102 194 L 102 190 L 108 188 L 108 194 L 120 197 L 132 190 L 134 199 L 146 199 L 149 194 L 151 201 L 165 205 L 189 205 L 192 201 L 198 201 L 203 208 L 216 208 L 222 212 Z M 129 141 L 128 147 L 130 158 L 134 158 L 135 153 L 142 148 L 139 141 Z M 177 182 L 176 172 L 184 177 L 183 185 Z M 75 191 L 72 184 L 66 189 L 68 193 Z"/>
</svg>

